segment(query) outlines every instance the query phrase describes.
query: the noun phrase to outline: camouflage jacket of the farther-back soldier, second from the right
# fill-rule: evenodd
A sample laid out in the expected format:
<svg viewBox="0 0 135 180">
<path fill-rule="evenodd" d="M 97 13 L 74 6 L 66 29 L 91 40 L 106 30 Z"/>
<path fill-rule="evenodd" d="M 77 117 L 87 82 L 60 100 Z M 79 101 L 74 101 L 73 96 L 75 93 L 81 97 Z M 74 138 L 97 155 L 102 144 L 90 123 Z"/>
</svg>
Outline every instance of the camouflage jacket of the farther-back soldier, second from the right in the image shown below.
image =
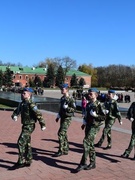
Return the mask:
<svg viewBox="0 0 135 180">
<path fill-rule="evenodd" d="M 109 111 L 107 114 L 107 119 L 116 119 L 121 120 L 121 113 L 119 111 L 119 107 L 117 101 L 112 99 L 108 100 L 104 103 L 105 109 Z"/>
</svg>

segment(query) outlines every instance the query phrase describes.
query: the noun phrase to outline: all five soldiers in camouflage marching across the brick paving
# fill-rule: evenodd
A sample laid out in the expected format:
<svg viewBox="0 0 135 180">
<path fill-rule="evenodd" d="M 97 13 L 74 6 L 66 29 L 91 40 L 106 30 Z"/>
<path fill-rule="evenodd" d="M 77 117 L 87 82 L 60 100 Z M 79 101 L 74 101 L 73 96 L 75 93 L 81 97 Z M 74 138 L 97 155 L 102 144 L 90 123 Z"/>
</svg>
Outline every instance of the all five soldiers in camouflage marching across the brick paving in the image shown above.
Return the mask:
<svg viewBox="0 0 135 180">
<path fill-rule="evenodd" d="M 59 149 L 54 154 L 54 157 L 68 155 L 69 143 L 67 131 L 71 124 L 72 117 L 76 108 L 75 100 L 69 95 L 68 84 L 63 84 L 61 87 L 62 97 L 60 99 L 60 109 L 56 117 L 56 122 L 60 122 L 58 130 Z M 105 149 L 112 147 L 111 128 L 118 119 L 122 125 L 121 113 L 119 111 L 116 93 L 114 90 L 109 90 L 107 100 L 101 104 L 98 98 L 98 89 L 90 88 L 88 90 L 88 103 L 86 106 L 86 113 L 83 117 L 82 130 L 85 130 L 85 137 L 83 139 L 83 154 L 76 172 L 81 170 L 91 170 L 96 168 L 96 152 L 95 147 L 101 147 L 105 137 L 107 137 L 108 145 Z M 17 120 L 21 114 L 22 131 L 18 139 L 19 157 L 17 163 L 11 169 L 30 166 L 32 163 L 32 149 L 31 149 L 31 134 L 35 129 L 37 120 L 41 126 L 41 130 L 46 129 L 45 120 L 37 106 L 31 100 L 33 90 L 31 88 L 24 88 L 21 93 L 22 102 L 14 110 L 12 119 Z M 122 157 L 127 158 L 130 155 L 135 145 L 135 103 L 131 105 L 128 110 L 127 118 L 132 121 L 132 136 L 129 147 L 122 154 Z M 105 124 L 102 136 L 97 144 L 94 144 L 95 137 L 100 130 L 100 126 Z M 89 157 L 89 164 L 87 159 Z M 134 157 L 135 159 L 135 157 Z"/>
</svg>

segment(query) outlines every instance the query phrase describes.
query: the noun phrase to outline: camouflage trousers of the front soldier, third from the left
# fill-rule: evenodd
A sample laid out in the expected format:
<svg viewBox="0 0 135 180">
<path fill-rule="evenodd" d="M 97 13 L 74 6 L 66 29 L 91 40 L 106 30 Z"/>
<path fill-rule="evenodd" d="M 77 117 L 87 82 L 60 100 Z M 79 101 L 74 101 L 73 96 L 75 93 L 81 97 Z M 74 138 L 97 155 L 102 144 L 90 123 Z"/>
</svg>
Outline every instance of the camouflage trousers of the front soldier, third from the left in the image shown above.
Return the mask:
<svg viewBox="0 0 135 180">
<path fill-rule="evenodd" d="M 83 155 L 80 164 L 86 164 L 88 156 L 90 158 L 90 163 L 95 163 L 96 152 L 94 147 L 94 140 L 99 129 L 100 127 L 86 126 L 85 137 L 83 139 Z"/>
</svg>

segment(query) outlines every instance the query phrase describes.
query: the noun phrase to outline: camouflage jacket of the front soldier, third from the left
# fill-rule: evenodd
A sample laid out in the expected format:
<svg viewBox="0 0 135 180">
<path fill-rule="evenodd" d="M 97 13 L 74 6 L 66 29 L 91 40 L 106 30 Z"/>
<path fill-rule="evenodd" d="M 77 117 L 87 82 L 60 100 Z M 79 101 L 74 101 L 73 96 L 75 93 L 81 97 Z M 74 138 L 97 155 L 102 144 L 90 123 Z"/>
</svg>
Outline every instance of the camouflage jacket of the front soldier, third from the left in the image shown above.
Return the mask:
<svg viewBox="0 0 135 180">
<path fill-rule="evenodd" d="M 90 111 L 93 110 L 98 115 L 97 117 L 93 117 L 90 114 Z M 86 106 L 86 115 L 84 117 L 84 120 L 86 122 L 86 125 L 95 125 L 100 126 L 103 124 L 103 121 L 105 121 L 106 116 L 103 113 L 103 108 L 101 103 L 96 100 L 95 102 L 88 102 Z"/>
</svg>

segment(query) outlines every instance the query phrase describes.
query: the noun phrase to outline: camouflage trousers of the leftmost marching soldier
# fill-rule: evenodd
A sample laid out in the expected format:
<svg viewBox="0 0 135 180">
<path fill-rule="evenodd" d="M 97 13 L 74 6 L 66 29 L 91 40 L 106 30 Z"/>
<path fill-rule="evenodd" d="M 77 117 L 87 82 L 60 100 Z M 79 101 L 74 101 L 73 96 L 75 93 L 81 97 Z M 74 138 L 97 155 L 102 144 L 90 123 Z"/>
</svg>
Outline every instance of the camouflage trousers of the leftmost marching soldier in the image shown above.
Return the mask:
<svg viewBox="0 0 135 180">
<path fill-rule="evenodd" d="M 18 139 L 19 158 L 18 163 L 31 163 L 32 148 L 31 148 L 31 134 L 35 129 L 35 124 L 23 125 L 22 132 Z"/>
</svg>

